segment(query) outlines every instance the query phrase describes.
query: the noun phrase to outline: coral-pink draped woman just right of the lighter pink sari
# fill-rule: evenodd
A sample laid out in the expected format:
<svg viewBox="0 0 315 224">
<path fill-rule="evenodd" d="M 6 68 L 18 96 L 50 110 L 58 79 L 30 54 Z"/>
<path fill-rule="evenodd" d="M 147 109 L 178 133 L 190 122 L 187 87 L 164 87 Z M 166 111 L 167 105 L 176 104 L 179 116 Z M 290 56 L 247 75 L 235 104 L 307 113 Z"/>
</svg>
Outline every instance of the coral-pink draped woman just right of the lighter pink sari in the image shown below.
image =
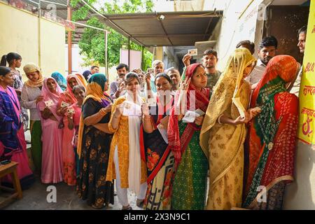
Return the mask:
<svg viewBox="0 0 315 224">
<path fill-rule="evenodd" d="M 83 85 L 76 75 L 66 77 L 66 91 L 60 94 L 57 104 L 57 115 L 63 119 L 62 160 L 64 162 L 64 182 L 69 186 L 76 185 L 76 156 L 71 144 L 74 130 L 69 129 L 67 111 L 77 100 L 72 90 L 76 85 Z"/>
</svg>

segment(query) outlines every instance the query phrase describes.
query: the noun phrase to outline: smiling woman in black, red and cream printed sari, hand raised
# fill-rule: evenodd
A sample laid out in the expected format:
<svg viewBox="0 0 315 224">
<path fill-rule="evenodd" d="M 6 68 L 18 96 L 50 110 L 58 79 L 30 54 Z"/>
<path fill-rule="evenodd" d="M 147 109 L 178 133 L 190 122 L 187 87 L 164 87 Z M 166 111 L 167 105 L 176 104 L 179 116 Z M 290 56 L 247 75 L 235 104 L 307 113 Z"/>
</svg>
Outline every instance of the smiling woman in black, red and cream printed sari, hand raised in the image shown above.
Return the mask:
<svg viewBox="0 0 315 224">
<path fill-rule="evenodd" d="M 153 104 L 143 104 L 141 127 L 141 154 L 146 158 L 148 189 L 144 209 L 171 209 L 171 183 L 174 174 L 174 156 L 168 148 L 167 124 L 174 105 L 172 80 L 165 73 L 155 77 L 158 96 Z M 154 102 L 155 101 L 155 102 Z"/>
</svg>

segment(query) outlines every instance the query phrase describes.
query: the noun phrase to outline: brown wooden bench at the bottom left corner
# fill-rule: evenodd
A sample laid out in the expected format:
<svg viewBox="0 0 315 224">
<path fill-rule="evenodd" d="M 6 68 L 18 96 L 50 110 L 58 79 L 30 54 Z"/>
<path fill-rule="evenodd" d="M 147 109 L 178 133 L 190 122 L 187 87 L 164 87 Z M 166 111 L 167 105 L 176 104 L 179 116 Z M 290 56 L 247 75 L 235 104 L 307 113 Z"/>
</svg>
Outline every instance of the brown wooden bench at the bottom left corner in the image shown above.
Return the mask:
<svg viewBox="0 0 315 224">
<path fill-rule="evenodd" d="M 10 195 L 9 197 L 6 197 L 5 200 L 0 202 L 0 208 L 5 207 L 8 204 L 8 202 L 10 202 L 11 200 L 15 198 L 18 198 L 18 199 L 22 198 L 22 188 L 20 184 L 20 179 L 18 178 L 18 173 L 16 171 L 17 167 L 18 167 L 18 162 L 14 162 L 14 161 L 11 161 L 10 163 L 6 165 L 0 165 L 0 179 L 3 176 L 10 174 L 12 177 L 12 182 L 13 182 L 13 187 L 14 187 L 14 189 L 6 188 L 4 186 L 1 186 L 1 182 L 0 182 L 0 189 L 6 190 L 8 192 L 13 192 L 12 195 Z"/>
</svg>

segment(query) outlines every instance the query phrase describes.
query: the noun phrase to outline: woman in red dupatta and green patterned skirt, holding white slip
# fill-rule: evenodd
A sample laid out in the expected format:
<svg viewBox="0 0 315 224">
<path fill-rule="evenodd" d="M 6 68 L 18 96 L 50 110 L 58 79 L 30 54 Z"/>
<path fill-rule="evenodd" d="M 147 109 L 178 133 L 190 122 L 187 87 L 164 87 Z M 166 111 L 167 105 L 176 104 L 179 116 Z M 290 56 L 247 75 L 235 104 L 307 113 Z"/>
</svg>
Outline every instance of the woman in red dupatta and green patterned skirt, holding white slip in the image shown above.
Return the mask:
<svg viewBox="0 0 315 224">
<path fill-rule="evenodd" d="M 207 75 L 202 64 L 188 66 L 182 80 L 185 81 L 181 83 L 180 95 L 176 95 L 167 133 L 176 169 L 172 209 L 202 210 L 206 200 L 208 151 L 200 148 L 199 135 L 202 111 L 209 104 Z"/>
</svg>

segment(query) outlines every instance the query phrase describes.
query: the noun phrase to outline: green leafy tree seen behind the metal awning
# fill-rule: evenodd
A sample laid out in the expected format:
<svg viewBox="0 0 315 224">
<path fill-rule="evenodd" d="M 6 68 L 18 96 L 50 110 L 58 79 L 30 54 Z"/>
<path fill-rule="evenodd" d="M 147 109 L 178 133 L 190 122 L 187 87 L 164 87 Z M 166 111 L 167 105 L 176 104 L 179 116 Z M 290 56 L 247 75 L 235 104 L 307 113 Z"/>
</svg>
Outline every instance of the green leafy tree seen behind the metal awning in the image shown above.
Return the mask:
<svg viewBox="0 0 315 224">
<path fill-rule="evenodd" d="M 75 7 L 80 0 L 71 0 L 71 6 Z M 87 3 L 93 5 L 97 3 L 97 0 L 87 0 Z M 119 4 L 120 1 L 113 0 L 111 3 L 106 2 L 99 9 L 100 13 L 104 14 L 120 14 L 120 13 L 140 13 L 140 12 L 152 12 L 153 1 L 152 0 L 125 0 L 123 4 Z M 86 20 L 87 13 L 90 9 L 87 6 L 83 6 L 73 12 L 72 20 Z M 113 66 L 119 63 L 120 48 L 128 45 L 128 39 L 119 34 L 114 29 L 106 27 L 103 22 L 99 21 L 97 17 L 87 20 L 87 25 L 106 29 L 108 34 L 107 45 L 107 61 L 109 66 Z M 92 29 L 86 27 L 82 35 L 81 40 L 78 42 L 81 49 L 80 54 L 85 56 L 85 64 L 90 65 L 92 63 L 105 66 L 105 43 L 104 43 L 104 31 Z M 131 50 L 141 50 L 141 45 L 131 42 Z M 148 50 L 144 49 L 144 70 L 151 67 L 152 54 Z"/>
</svg>

